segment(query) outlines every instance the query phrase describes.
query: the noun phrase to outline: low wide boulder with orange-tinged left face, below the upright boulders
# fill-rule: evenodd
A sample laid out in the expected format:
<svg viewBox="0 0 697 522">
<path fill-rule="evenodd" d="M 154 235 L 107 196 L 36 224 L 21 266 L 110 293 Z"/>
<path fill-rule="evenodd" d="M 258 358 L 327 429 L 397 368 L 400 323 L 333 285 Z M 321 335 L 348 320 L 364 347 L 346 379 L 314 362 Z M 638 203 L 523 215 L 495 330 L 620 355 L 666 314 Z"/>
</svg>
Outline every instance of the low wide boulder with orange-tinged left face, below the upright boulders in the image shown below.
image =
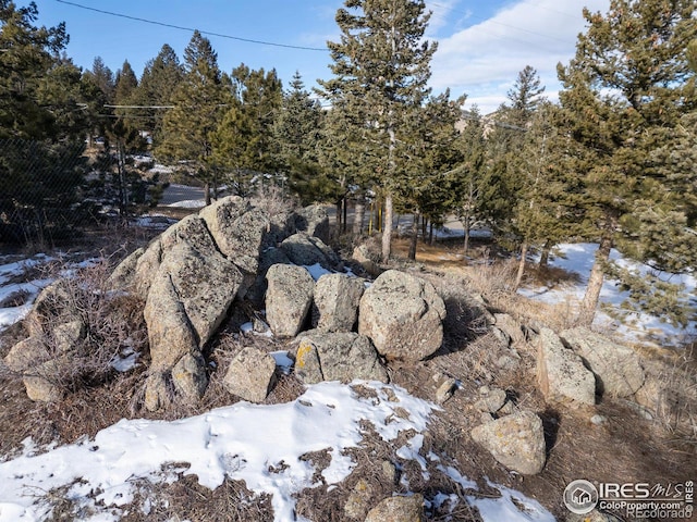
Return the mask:
<svg viewBox="0 0 697 522">
<path fill-rule="evenodd" d="M 348 383 L 354 378 L 388 382 L 388 373 L 370 339 L 355 332 L 305 332 L 299 337 L 295 374 L 306 384 Z"/>
</svg>

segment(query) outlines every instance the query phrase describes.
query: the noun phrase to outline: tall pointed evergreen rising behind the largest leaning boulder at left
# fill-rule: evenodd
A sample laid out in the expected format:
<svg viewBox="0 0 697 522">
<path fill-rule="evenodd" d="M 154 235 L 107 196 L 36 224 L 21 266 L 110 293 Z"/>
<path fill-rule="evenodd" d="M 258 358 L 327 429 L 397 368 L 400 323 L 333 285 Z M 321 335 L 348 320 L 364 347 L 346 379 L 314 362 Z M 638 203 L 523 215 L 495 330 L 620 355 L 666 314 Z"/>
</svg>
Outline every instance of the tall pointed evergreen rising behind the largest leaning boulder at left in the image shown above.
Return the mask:
<svg viewBox="0 0 697 522">
<path fill-rule="evenodd" d="M 172 96 L 174 108 L 162 121 L 155 152 L 163 161 L 185 162 L 205 184 L 206 204 L 219 172 L 212 161 L 212 135 L 230 103 L 218 55 L 210 41 L 194 32 L 184 50 L 185 75 Z"/>
</svg>

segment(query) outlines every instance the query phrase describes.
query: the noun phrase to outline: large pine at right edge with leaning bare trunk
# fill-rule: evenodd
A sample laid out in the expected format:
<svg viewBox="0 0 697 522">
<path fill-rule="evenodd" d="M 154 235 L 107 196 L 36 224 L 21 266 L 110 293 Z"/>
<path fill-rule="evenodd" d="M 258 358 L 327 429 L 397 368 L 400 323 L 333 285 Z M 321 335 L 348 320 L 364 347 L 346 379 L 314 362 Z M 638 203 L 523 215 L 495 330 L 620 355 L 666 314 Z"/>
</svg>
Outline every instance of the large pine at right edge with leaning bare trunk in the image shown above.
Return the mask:
<svg viewBox="0 0 697 522">
<path fill-rule="evenodd" d="M 686 53 L 697 36 L 696 7 L 694 0 L 612 0 L 606 15 L 585 10 L 588 29 L 575 58 L 559 67 L 570 166 L 584 182 L 587 236 L 600 243 L 584 323 L 592 321 L 609 268 L 625 276 L 639 306 L 683 322 L 675 291 L 637 285 L 640 278 L 612 268 L 609 256 L 615 247 L 653 271 L 695 266 L 694 202 L 684 197 L 694 192 L 694 174 L 660 151 L 697 103 Z"/>
</svg>

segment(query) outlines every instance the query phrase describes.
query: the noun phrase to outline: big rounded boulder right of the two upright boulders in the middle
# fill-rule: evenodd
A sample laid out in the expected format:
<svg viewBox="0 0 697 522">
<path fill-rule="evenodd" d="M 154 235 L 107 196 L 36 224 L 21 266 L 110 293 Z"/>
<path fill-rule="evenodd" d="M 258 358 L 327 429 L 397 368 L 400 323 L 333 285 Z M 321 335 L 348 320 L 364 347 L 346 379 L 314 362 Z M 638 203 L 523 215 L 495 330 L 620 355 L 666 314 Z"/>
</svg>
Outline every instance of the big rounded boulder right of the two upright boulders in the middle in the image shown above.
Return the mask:
<svg viewBox="0 0 697 522">
<path fill-rule="evenodd" d="M 445 304 L 429 282 L 389 270 L 360 298 L 358 333 L 388 360 L 418 361 L 443 341 Z"/>
</svg>

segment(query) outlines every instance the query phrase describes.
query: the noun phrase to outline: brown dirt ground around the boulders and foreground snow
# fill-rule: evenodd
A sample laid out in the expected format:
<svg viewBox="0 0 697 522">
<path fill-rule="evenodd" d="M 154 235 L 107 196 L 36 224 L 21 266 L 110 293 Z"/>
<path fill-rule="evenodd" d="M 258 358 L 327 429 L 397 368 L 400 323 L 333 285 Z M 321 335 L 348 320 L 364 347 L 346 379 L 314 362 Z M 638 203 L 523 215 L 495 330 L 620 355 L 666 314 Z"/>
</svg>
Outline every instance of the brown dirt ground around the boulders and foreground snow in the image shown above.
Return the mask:
<svg viewBox="0 0 697 522">
<path fill-rule="evenodd" d="M 142 238 L 140 243 L 143 239 L 146 238 Z M 444 493 L 455 494 L 463 500 L 456 507 L 431 509 L 429 520 L 478 521 L 480 517 L 477 510 L 469 508 L 464 500 L 470 495 L 496 496 L 496 490 L 488 485 L 488 481 L 491 481 L 537 499 L 561 521 L 568 513 L 562 502 L 562 493 L 576 478 L 599 483 L 662 484 L 695 478 L 696 439 L 672 428 L 660 419 L 647 420 L 628 403 L 610 398 L 603 398 L 595 407 L 578 409 L 546 403 L 536 386 L 534 344 L 522 343 L 514 346 L 519 362 L 510 369 L 499 368 L 497 361 L 501 356 L 510 355 L 510 348 L 473 321 L 467 308 L 473 290 L 484 288 L 489 293 L 487 295 L 487 291 L 482 291 L 484 297 L 498 311 L 506 311 L 516 318 L 535 318 L 538 321 L 548 319 L 553 325 L 564 325 L 570 321 L 568 318 L 560 319 L 559 315 L 563 313 L 559 310 L 523 302 L 512 294 L 506 294 L 501 285 L 500 274 L 506 273 L 508 269 L 501 269 L 503 272 L 498 275 L 491 275 L 493 281 L 486 285 L 479 282 L 477 286 L 473 283 L 473 277 L 480 276 L 482 272 L 473 268 L 474 263 L 465 262 L 458 241 L 435 246 L 419 243 L 416 264 L 406 261 L 407 248 L 405 238 L 395 239 L 395 264 L 420 273 L 432 281 L 441 294 L 447 295 L 447 338 L 444 348 L 428 360 L 411 365 L 392 365 L 390 377 L 413 395 L 429 400 L 436 398 L 439 377 L 448 376 L 457 381 L 457 390 L 432 419 L 421 453 L 432 451 L 442 463 L 452 463 L 463 475 L 475 480 L 479 490 L 464 490 L 430 460 L 430 480 L 425 480 L 423 470 L 418 467 L 414 469 L 413 462 L 403 462 L 395 455 L 400 447 L 399 440 L 394 445 L 388 445 L 378 436 L 371 435 L 369 426 L 366 426 L 365 444 L 352 455 L 357 462 L 353 473 L 344 483 L 330 490 L 318 487 L 303 492 L 297 502 L 298 514 L 314 521 L 351 520 L 346 518 L 344 506 L 356 488 L 362 487 L 368 492 L 365 500 L 368 506 L 394 493 L 406 493 L 404 484 L 408 483 L 411 490 L 423 493 L 427 499 L 432 499 L 437 493 Z M 498 253 L 493 245 L 475 244 L 472 257 L 497 259 Z M 139 399 L 143 370 L 76 390 L 62 401 L 48 405 L 32 402 L 16 376 L 0 372 L 0 459 L 16 452 L 21 442 L 28 436 L 38 444 L 66 444 L 84 435 L 94 436 L 99 430 L 122 418 L 175 419 L 230 403 L 230 398 L 220 393 L 220 380 L 229 362 L 224 355 L 234 350 L 235 344 L 254 343 L 268 351 L 288 349 L 284 344 L 273 339 L 235 339 L 230 334 L 243 319 L 232 316 L 213 344 L 209 358 L 217 363 L 218 370 L 211 374 L 211 384 L 201 402 L 196 407 L 166 414 L 149 413 L 142 407 Z M 21 325 L 4 332 L 0 336 L 0 357 L 4 357 L 11 346 L 25 335 Z M 504 389 L 517 408 L 533 410 L 542 419 L 548 459 L 540 474 L 523 476 L 511 472 L 472 440 L 470 430 L 481 422 L 481 414 L 474 402 L 484 385 Z M 267 403 L 292 400 L 302 389 L 302 384 L 292 374 L 279 375 L 278 384 L 267 398 Z M 604 422 L 591 422 L 594 415 L 602 415 Z M 309 455 L 307 458 L 320 464 L 322 455 Z M 386 461 L 401 462 L 404 467 L 394 476 L 389 473 L 386 475 Z M 406 481 L 402 481 L 402 476 Z M 244 501 L 233 501 L 235 498 Z M 146 501 L 152 508 L 147 517 L 137 509 L 138 502 Z M 71 509 L 68 501 L 59 505 L 54 519 L 70 520 L 74 514 Z M 225 481 L 223 486 L 210 492 L 198 485 L 195 477 L 158 486 L 144 482 L 133 509 L 123 520 L 172 520 L 173 517 L 176 520 L 272 520 L 269 499 L 253 498 L 244 484 Z"/>
</svg>

